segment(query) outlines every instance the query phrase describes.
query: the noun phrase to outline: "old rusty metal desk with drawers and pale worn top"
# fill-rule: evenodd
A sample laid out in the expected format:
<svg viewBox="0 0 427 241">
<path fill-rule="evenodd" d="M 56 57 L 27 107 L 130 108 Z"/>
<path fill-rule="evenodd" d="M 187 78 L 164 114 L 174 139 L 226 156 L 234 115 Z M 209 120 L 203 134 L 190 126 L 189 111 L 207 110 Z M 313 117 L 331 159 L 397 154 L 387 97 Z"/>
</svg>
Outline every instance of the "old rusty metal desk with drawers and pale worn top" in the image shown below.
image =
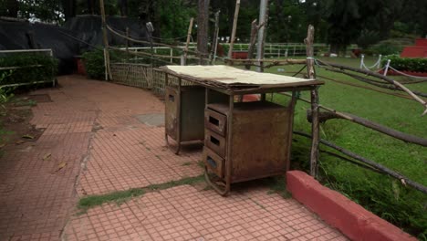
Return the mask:
<svg viewBox="0 0 427 241">
<path fill-rule="evenodd" d="M 323 84 L 323 81 L 316 79 L 256 73 L 227 66 L 165 66 L 162 69 L 167 76 L 167 88 L 169 75 L 178 79 L 175 87 L 178 118 L 186 115 L 181 108 L 186 88 L 182 87 L 182 80 L 205 88 L 204 101 L 199 100 L 205 106 L 204 173 L 207 183 L 222 195 L 229 193 L 231 183 L 285 173 L 289 169 L 297 92 L 317 91 L 318 86 Z M 286 106 L 266 101 L 266 93 L 285 91 L 292 92 Z M 167 95 L 170 92 L 167 91 Z M 235 96 L 245 94 L 261 94 L 262 98 L 255 102 L 234 103 Z M 176 100 L 176 97 L 173 99 Z M 200 121 L 202 111 L 197 108 L 197 113 L 189 116 L 197 116 L 196 119 Z M 185 136 L 180 134 L 181 126 L 176 125 L 178 134 L 175 136 L 178 139 L 175 141 L 178 144 L 181 142 L 180 136 Z M 166 127 L 166 136 L 167 132 Z M 209 173 L 215 174 L 223 185 L 213 183 Z"/>
</svg>

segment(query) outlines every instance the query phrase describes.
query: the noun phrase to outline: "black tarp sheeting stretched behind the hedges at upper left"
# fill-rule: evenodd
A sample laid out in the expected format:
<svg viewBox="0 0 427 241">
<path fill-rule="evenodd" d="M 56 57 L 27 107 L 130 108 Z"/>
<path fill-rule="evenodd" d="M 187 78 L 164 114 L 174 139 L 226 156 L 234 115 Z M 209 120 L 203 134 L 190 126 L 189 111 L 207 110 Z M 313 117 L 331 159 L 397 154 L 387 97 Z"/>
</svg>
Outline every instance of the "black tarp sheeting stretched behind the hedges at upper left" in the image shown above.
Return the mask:
<svg viewBox="0 0 427 241">
<path fill-rule="evenodd" d="M 138 19 L 108 17 L 107 23 L 118 32 L 130 28 L 130 36 L 147 40 L 145 24 Z M 124 46 L 126 40 L 109 33 L 111 46 Z M 30 38 L 34 39 L 31 46 Z M 100 16 L 76 16 L 64 26 L 31 24 L 22 21 L 0 19 L 0 49 L 51 48 L 59 59 L 59 73 L 67 74 L 76 69 L 74 58 L 96 46 L 102 46 Z"/>
</svg>

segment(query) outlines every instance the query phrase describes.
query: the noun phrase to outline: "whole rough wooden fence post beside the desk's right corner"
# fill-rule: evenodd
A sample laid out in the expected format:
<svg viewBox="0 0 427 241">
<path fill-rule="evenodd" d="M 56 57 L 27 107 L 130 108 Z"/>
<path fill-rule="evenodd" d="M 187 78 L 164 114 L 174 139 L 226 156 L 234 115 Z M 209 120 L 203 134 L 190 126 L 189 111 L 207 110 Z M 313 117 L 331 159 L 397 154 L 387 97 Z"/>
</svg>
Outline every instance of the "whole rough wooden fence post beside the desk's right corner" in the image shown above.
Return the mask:
<svg viewBox="0 0 427 241">
<path fill-rule="evenodd" d="M 307 29 L 307 38 L 304 39 L 306 43 L 307 53 L 307 77 L 308 79 L 316 79 L 316 72 L 314 68 L 314 26 L 309 25 Z M 313 177 L 318 176 L 318 140 L 319 140 L 319 125 L 318 125 L 318 88 L 311 89 L 311 152 L 310 152 L 310 175 Z"/>
</svg>

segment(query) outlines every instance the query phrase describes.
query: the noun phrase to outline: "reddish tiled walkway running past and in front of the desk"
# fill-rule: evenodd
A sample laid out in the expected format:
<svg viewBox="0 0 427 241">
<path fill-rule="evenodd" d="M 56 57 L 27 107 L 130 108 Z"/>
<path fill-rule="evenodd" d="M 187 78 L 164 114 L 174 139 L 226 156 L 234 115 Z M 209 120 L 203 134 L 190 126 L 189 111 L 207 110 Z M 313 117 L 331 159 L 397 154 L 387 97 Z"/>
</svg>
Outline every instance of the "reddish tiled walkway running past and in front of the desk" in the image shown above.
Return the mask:
<svg viewBox="0 0 427 241">
<path fill-rule="evenodd" d="M 36 143 L 0 162 L 0 240 L 345 240 L 293 199 L 254 186 L 221 197 L 180 185 L 102 204 L 78 214 L 92 194 L 167 183 L 203 173 L 201 151 L 177 156 L 163 127 L 141 115 L 163 112 L 149 91 L 77 76 L 40 89 L 32 123 Z"/>
</svg>

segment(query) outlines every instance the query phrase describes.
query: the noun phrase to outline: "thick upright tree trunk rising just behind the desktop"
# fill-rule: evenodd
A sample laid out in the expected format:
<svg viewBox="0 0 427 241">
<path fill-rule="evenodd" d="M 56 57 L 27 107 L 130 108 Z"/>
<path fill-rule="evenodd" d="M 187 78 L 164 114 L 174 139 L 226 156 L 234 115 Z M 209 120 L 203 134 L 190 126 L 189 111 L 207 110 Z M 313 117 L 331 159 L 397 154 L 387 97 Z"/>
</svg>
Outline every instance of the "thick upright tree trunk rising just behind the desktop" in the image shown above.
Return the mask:
<svg viewBox="0 0 427 241">
<path fill-rule="evenodd" d="M 208 24 L 209 24 L 209 0 L 199 0 L 197 16 L 197 51 L 199 52 L 199 64 L 207 61 L 208 56 Z"/>
</svg>

